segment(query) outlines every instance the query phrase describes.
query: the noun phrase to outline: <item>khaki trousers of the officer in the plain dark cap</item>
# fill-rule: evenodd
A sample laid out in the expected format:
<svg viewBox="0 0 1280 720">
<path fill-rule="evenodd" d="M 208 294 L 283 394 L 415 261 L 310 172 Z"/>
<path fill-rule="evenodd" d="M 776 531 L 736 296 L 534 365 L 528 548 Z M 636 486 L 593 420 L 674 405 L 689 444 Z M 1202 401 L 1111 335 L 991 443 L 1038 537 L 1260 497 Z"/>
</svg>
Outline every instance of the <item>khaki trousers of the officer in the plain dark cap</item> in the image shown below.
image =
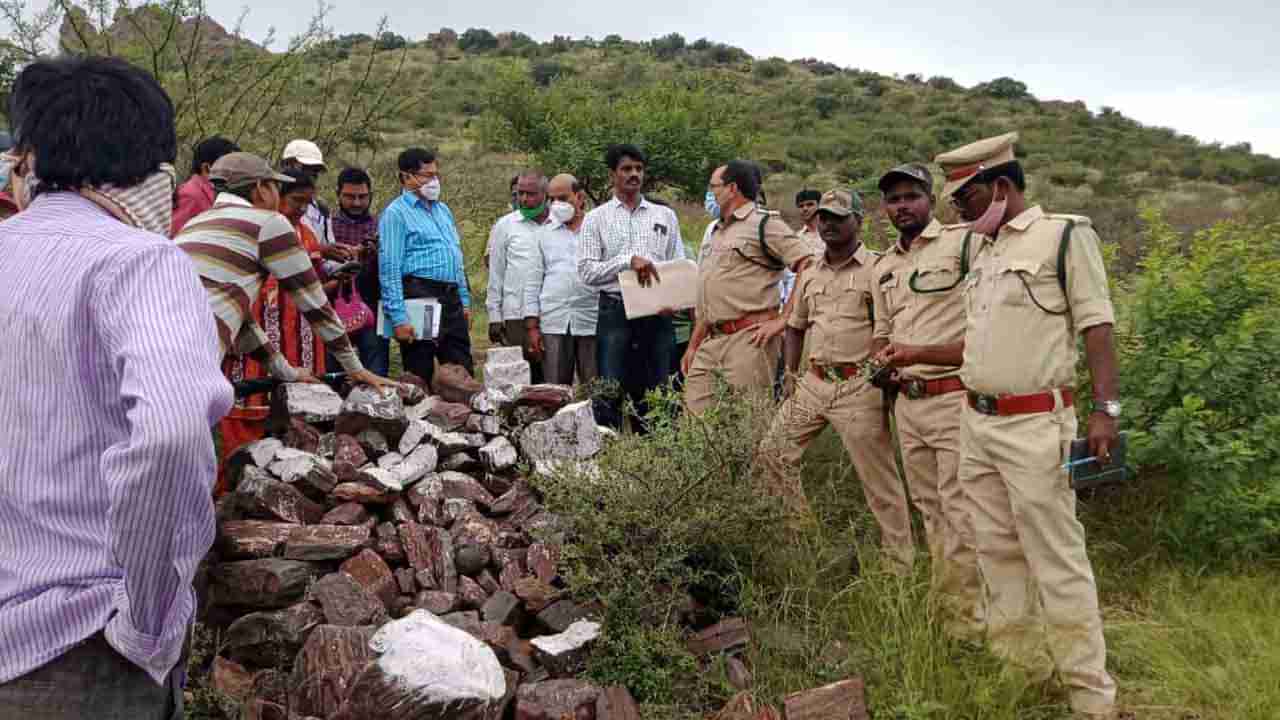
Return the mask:
<svg viewBox="0 0 1280 720">
<path fill-rule="evenodd" d="M 911 502 L 924 516 L 932 587 L 947 632 L 979 641 L 986 629 L 973 514 L 960 484 L 960 421 L 964 392 L 897 397 L 897 438 Z"/>
</svg>

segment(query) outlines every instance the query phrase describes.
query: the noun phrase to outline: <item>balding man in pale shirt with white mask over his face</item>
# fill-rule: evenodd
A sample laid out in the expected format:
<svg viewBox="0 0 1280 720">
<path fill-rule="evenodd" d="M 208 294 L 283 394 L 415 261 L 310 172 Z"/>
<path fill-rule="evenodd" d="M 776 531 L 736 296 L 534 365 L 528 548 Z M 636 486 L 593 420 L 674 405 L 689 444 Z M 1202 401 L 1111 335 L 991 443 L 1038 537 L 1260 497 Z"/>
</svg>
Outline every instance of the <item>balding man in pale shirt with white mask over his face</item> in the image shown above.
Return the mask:
<svg viewBox="0 0 1280 720">
<path fill-rule="evenodd" d="M 595 379 L 595 292 L 577 277 L 577 236 L 586 217 L 586 193 L 577 178 L 559 174 L 547 186 L 550 222 L 538 232 L 525 275 L 525 333 L 530 352 L 543 360 L 549 383 L 586 384 Z"/>
</svg>

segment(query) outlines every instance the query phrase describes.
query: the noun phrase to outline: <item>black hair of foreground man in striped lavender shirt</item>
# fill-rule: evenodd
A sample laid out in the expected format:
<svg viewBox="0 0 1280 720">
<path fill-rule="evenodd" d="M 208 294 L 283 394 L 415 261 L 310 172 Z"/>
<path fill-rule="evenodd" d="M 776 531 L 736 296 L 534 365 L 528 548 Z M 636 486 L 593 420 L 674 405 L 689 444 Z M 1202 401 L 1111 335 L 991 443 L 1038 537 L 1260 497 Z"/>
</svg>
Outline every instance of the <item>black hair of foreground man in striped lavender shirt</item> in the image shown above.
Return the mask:
<svg viewBox="0 0 1280 720">
<path fill-rule="evenodd" d="M 40 191 L 134 186 L 178 155 L 169 95 L 116 58 L 27 65 L 13 82 L 9 122 L 18 149 L 35 152 Z"/>
</svg>

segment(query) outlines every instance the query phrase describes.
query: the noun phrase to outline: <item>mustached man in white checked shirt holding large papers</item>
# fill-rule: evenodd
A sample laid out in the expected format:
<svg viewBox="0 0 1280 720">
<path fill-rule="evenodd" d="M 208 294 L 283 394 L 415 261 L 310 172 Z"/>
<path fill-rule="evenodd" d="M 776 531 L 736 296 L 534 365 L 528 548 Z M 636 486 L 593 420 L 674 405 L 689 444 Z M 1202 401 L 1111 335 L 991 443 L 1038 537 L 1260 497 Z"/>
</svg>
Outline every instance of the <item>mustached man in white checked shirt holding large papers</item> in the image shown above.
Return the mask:
<svg viewBox="0 0 1280 720">
<path fill-rule="evenodd" d="M 669 377 L 676 337 L 671 316 L 627 319 L 618 273 L 635 270 L 640 284 L 646 287 L 662 282 L 654 264 L 682 259 L 685 243 L 680 238 L 676 213 L 650 202 L 640 192 L 648 164 L 645 154 L 634 145 L 613 145 L 604 161 L 609 167 L 613 199 L 588 213 L 582 222 L 577 273 L 599 296 L 595 338 L 600 378 L 617 382 L 644 415 L 645 392 Z M 621 401 L 618 393 L 598 397 L 595 419 L 621 428 Z M 644 429 L 639 424 L 634 427 Z"/>
</svg>

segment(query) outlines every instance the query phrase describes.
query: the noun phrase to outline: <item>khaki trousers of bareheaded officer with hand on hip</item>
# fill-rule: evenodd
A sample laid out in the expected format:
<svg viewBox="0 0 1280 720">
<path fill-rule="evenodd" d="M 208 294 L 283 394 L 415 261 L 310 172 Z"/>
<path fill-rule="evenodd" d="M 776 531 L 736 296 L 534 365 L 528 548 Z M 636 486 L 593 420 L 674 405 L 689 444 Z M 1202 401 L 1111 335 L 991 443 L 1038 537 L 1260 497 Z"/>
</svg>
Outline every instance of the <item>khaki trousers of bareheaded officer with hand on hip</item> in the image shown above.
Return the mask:
<svg viewBox="0 0 1280 720">
<path fill-rule="evenodd" d="M 709 337 L 698 346 L 694 363 L 685 378 L 685 407 L 701 414 L 716 398 L 716 374 L 739 391 L 769 391 L 778 370 L 782 338 L 776 337 L 764 347 L 751 345 L 754 328 L 732 334 Z"/>
</svg>

